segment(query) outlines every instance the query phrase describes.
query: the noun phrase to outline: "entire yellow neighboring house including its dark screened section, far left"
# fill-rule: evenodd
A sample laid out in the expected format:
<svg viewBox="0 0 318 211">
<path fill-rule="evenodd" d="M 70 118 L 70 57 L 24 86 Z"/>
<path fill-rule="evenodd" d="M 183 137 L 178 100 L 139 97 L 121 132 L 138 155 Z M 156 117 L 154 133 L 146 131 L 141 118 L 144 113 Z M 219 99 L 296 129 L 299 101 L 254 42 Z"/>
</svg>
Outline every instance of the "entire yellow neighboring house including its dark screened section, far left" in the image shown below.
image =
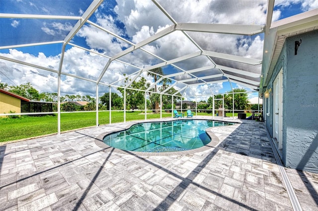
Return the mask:
<svg viewBox="0 0 318 211">
<path fill-rule="evenodd" d="M 49 102 L 30 101 L 22 96 L 0 89 L 0 113 L 52 112 L 53 104 Z"/>
</svg>

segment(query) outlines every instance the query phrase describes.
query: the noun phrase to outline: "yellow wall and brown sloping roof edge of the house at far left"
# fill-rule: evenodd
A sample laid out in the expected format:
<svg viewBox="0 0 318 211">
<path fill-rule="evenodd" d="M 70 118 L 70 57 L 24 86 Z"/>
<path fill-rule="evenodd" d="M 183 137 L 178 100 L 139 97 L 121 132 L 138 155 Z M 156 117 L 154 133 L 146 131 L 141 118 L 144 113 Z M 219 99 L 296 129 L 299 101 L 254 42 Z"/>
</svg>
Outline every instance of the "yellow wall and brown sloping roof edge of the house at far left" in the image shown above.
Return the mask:
<svg viewBox="0 0 318 211">
<path fill-rule="evenodd" d="M 0 113 L 21 113 L 21 104 L 30 100 L 6 90 L 0 89 Z"/>
</svg>

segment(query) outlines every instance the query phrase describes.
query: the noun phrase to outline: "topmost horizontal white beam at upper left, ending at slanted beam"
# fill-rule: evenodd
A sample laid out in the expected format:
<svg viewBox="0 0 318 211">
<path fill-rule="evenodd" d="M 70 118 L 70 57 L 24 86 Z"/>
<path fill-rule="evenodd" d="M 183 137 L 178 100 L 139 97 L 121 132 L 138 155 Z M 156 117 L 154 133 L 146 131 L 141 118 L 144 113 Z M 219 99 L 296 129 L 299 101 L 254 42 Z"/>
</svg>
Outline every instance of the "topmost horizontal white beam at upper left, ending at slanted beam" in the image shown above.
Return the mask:
<svg viewBox="0 0 318 211">
<path fill-rule="evenodd" d="M 0 13 L 0 18 L 79 20 L 79 16 Z"/>
</svg>

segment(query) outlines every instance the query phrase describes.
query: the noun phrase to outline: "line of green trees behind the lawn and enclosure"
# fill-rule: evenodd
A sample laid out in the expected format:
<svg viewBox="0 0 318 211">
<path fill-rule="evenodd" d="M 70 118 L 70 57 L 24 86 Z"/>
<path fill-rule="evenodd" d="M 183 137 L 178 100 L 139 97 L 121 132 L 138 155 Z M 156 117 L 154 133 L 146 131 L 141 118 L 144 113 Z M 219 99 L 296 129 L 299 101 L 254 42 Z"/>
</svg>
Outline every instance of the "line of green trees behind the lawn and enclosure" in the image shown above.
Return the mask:
<svg viewBox="0 0 318 211">
<path fill-rule="evenodd" d="M 155 68 L 148 72 L 149 76 L 154 78 L 155 86 L 149 90 L 147 93 L 149 95 L 149 100 L 147 99 L 147 109 L 153 110 L 153 112 L 159 112 L 159 102 L 160 102 L 160 94 L 157 93 L 158 91 L 162 92 L 165 90 L 165 94 L 162 95 L 162 107 L 163 110 L 171 110 L 172 109 L 172 94 L 177 92 L 173 87 L 169 87 L 169 83 L 171 80 L 168 78 L 163 78 L 158 84 L 161 84 L 159 88 L 157 87 L 157 81 L 161 77 L 164 76 L 162 69 Z M 126 76 L 126 74 L 124 74 Z M 144 77 L 141 77 L 139 80 L 134 80 L 130 78 L 125 78 L 122 82 L 122 86 L 126 87 L 127 84 L 130 84 L 129 88 L 126 89 L 126 110 L 129 109 L 145 109 L 145 90 L 149 89 L 151 86 L 150 83 L 147 83 L 147 80 Z M 24 98 L 33 101 L 42 101 L 42 102 L 58 102 L 58 94 L 57 93 L 39 93 L 32 85 L 28 82 L 21 85 L 16 86 L 8 86 L 6 83 L 0 83 L 0 88 L 7 90 L 9 92 L 15 93 L 20 95 Z M 117 90 L 124 96 L 124 88 L 117 88 Z M 244 89 L 234 89 L 234 92 L 238 94 L 234 95 L 234 109 L 235 110 L 244 110 L 247 108 L 248 98 L 247 94 L 244 93 L 246 90 Z M 215 95 L 214 99 L 223 99 L 223 95 Z M 173 105 L 180 101 L 180 97 L 173 98 Z M 77 106 L 72 101 L 85 101 L 88 102 L 85 106 Z M 89 95 L 80 96 L 80 95 L 65 95 L 60 96 L 61 110 L 63 111 L 75 111 L 75 110 L 95 110 L 96 109 L 96 99 L 90 97 Z M 99 105 L 98 109 L 100 110 L 109 110 L 109 93 L 104 93 L 103 96 L 99 98 Z M 195 103 L 195 102 L 194 102 Z M 208 110 L 208 112 L 212 112 L 213 109 L 213 98 L 209 97 L 207 101 L 201 101 L 201 104 L 197 106 L 199 111 Z M 215 109 L 222 107 L 223 101 L 222 100 L 215 100 Z M 111 109 L 113 110 L 122 110 L 124 108 L 124 100 L 120 97 L 117 93 L 111 93 Z M 175 106 L 173 106 L 174 108 Z M 182 105 L 183 108 L 186 105 Z M 224 107 L 225 109 L 232 110 L 233 108 L 233 94 L 232 91 L 224 94 Z M 57 106 L 54 106 L 54 110 L 57 110 Z M 210 111 L 209 111 L 210 110 Z"/>
</svg>

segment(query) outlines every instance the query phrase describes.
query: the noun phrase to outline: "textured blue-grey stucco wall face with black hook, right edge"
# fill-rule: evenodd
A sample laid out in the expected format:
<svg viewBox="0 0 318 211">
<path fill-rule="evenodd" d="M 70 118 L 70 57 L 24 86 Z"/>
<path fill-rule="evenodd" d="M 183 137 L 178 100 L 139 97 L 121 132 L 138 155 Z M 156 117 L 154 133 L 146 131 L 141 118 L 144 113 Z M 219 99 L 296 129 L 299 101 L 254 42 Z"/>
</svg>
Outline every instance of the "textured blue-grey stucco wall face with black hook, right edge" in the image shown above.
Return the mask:
<svg viewBox="0 0 318 211">
<path fill-rule="evenodd" d="M 300 39 L 302 43 L 295 55 L 295 41 Z M 291 168 L 318 172 L 318 30 L 290 37 L 285 45 L 284 163 Z"/>
</svg>

